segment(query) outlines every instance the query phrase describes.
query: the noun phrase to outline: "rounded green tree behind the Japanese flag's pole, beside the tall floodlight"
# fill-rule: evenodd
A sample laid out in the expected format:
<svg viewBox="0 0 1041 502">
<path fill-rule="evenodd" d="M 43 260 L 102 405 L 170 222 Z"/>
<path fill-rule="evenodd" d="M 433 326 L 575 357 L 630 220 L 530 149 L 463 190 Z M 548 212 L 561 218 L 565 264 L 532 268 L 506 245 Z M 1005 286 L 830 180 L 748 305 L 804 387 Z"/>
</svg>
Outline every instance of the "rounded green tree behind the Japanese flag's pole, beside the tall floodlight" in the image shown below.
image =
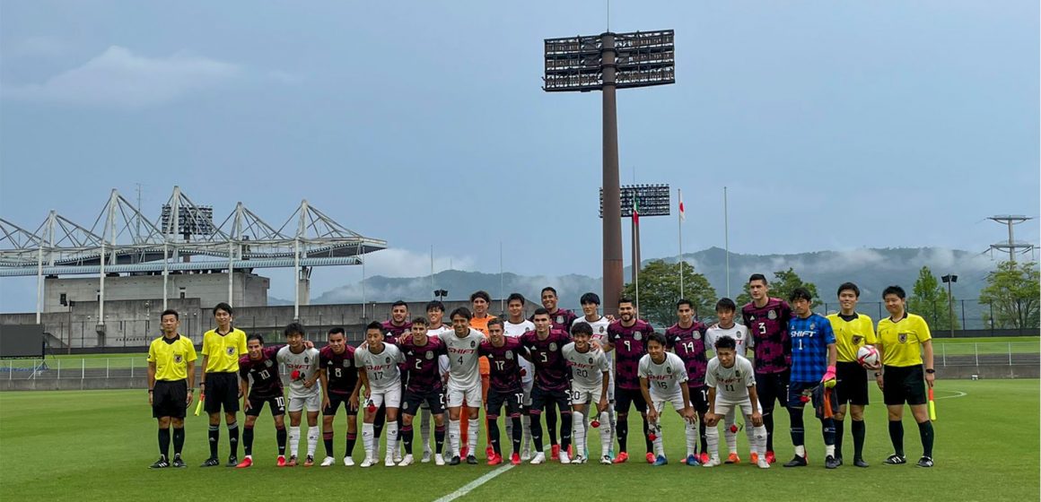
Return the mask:
<svg viewBox="0 0 1041 502">
<path fill-rule="evenodd" d="M 639 315 L 642 319 L 670 325 L 676 322 L 676 302 L 680 299 L 680 267 L 683 267 L 683 294 L 694 303 L 699 317 L 715 314 L 716 293 L 705 275 L 694 272 L 689 263 L 648 262 L 640 269 Z M 626 284 L 623 296 L 636 299 L 636 286 Z"/>
</svg>

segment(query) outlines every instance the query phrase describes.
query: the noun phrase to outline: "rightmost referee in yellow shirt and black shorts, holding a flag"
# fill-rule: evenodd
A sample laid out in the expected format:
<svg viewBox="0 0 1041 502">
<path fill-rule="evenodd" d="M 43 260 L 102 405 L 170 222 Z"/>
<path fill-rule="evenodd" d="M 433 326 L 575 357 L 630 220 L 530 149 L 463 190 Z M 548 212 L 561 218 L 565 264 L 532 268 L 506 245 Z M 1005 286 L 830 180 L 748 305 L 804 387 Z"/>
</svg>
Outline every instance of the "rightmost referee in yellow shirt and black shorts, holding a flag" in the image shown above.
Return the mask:
<svg viewBox="0 0 1041 502">
<path fill-rule="evenodd" d="M 882 371 L 874 373 L 874 377 L 889 409 L 889 439 L 895 450 L 883 463 L 907 464 L 902 422 L 906 402 L 911 406 L 921 435 L 922 454 L 918 467 L 933 467 L 933 422 L 929 420 L 925 404 L 925 386 L 932 388 L 936 379 L 933 337 L 924 319 L 907 312 L 906 297 L 904 288 L 899 286 L 890 286 L 882 292 L 889 317 L 879 321 L 878 347 L 882 355 Z"/>
</svg>

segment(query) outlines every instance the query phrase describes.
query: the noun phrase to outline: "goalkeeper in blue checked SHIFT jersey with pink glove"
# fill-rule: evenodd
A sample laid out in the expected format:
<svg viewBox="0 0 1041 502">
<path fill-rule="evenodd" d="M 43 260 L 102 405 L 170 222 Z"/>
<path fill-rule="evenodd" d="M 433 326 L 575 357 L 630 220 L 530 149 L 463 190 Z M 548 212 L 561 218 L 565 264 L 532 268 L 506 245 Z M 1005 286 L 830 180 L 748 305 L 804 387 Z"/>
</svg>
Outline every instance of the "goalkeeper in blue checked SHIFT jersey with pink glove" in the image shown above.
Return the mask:
<svg viewBox="0 0 1041 502">
<path fill-rule="evenodd" d="M 839 467 L 835 458 L 835 421 L 828 413 L 826 397 L 834 393 L 835 361 L 838 352 L 835 348 L 835 333 L 827 317 L 814 314 L 812 310 L 813 295 L 806 288 L 795 288 L 789 297 L 792 316 L 788 321 L 788 336 L 791 342 L 791 381 L 788 385 L 788 411 L 791 416 L 791 443 L 795 446 L 795 456 L 784 467 L 806 467 L 806 431 L 803 428 L 803 407 L 812 395 L 814 407 L 819 409 L 824 433 L 824 467 Z M 817 389 L 823 386 L 823 389 Z M 823 391 L 823 392 L 814 392 Z M 834 396 L 833 396 L 834 397 Z M 832 407 L 838 404 L 837 399 L 831 399 Z M 834 409 L 834 408 L 833 408 Z"/>
</svg>

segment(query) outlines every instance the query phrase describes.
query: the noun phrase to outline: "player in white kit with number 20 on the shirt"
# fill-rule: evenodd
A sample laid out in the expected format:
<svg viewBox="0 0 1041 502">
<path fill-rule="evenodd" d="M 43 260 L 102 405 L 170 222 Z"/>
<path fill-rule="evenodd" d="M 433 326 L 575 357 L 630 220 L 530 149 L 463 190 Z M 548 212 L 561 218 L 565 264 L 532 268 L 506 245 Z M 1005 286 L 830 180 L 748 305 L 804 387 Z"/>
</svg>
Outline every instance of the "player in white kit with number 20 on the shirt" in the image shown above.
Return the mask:
<svg viewBox="0 0 1041 502">
<path fill-rule="evenodd" d="M 596 403 L 600 427 L 601 464 L 611 465 L 611 416 L 608 414 L 607 389 L 611 384 L 611 366 L 607 355 L 600 348 L 589 344 L 592 326 L 586 322 L 576 322 L 572 326 L 572 339 L 562 350 L 564 360 L 572 367 L 572 420 L 573 437 L 577 451 L 573 464 L 586 461 L 586 409 Z"/>
</svg>

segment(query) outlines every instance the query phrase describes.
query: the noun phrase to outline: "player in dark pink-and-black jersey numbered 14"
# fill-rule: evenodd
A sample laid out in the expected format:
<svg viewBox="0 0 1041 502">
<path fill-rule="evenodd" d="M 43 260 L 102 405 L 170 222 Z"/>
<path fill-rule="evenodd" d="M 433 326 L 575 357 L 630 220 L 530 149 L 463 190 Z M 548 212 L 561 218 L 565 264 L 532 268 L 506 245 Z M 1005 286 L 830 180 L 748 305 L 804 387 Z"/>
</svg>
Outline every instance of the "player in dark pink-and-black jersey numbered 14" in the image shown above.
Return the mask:
<svg viewBox="0 0 1041 502">
<path fill-rule="evenodd" d="M 687 368 L 687 391 L 690 395 L 690 404 L 701 419 L 697 423 L 697 431 L 701 435 L 702 452 L 704 453 L 708 449 L 705 437 L 705 414 L 709 411 L 709 391 L 705 387 L 705 369 L 709 365 L 709 360 L 705 356 L 705 324 L 694 320 L 693 306 L 689 299 L 681 299 L 676 302 L 676 313 L 680 321 L 665 329 L 665 343 L 680 356 Z M 691 435 L 687 435 L 686 464 L 697 466 L 701 464 L 697 458 L 697 438 L 691 438 Z"/>
</svg>

